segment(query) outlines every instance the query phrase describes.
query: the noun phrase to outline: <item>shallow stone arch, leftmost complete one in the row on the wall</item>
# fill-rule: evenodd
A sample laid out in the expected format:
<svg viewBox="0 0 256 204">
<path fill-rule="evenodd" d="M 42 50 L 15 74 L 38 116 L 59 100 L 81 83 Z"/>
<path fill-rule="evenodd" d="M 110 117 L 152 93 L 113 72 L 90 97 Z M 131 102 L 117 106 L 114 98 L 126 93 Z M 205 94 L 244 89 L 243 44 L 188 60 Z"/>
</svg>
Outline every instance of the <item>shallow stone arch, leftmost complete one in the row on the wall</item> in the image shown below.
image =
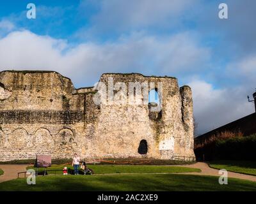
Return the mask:
<svg viewBox="0 0 256 204">
<path fill-rule="evenodd" d="M 9 147 L 13 149 L 24 148 L 29 142 L 29 135 L 26 129 L 17 128 L 8 136 Z"/>
</svg>

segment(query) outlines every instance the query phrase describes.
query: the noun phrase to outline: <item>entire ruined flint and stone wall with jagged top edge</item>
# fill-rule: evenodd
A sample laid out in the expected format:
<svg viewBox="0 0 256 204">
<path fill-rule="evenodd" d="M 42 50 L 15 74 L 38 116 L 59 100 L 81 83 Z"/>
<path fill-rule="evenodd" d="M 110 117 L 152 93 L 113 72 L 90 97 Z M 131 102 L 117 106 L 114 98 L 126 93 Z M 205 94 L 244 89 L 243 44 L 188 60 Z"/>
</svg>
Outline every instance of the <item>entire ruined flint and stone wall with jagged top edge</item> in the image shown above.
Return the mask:
<svg viewBox="0 0 256 204">
<path fill-rule="evenodd" d="M 75 89 L 54 71 L 0 72 L 0 161 L 53 158 L 194 157 L 191 89 L 177 79 L 140 74 L 103 74 L 100 82 L 163 83 L 161 117 L 150 117 L 150 106 L 93 102 L 99 92 Z M 115 93 L 118 90 L 115 90 Z M 121 96 L 122 97 L 122 96 Z M 141 100 L 143 100 L 141 98 Z M 154 114 L 154 113 L 153 113 Z M 158 114 L 158 113 L 156 113 Z M 139 154 L 141 140 L 147 154 Z"/>
</svg>

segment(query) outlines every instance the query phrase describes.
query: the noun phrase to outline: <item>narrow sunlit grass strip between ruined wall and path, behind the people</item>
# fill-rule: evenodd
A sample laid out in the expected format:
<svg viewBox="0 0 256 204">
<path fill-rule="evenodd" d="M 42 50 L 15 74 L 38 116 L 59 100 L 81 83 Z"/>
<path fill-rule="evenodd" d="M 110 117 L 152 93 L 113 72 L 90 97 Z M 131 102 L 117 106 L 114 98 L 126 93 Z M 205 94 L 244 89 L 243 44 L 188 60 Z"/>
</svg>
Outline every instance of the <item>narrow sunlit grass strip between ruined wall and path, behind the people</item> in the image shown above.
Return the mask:
<svg viewBox="0 0 256 204">
<path fill-rule="evenodd" d="M 65 164 L 53 164 L 47 170 L 62 170 L 64 166 L 74 169 L 71 165 Z M 27 169 L 33 168 L 29 166 Z M 181 172 L 200 172 L 198 168 L 188 168 L 183 166 L 164 166 L 164 165 L 88 165 L 88 168 L 92 168 L 95 174 L 102 173 L 181 173 Z M 33 168 L 36 170 L 36 168 Z M 38 170 L 44 170 L 44 168 L 38 168 Z M 51 171 L 48 172 L 51 174 Z M 52 173 L 54 173 L 52 171 Z M 81 172 L 82 173 L 82 172 Z M 62 174 L 62 171 L 56 171 L 56 174 Z"/>
</svg>

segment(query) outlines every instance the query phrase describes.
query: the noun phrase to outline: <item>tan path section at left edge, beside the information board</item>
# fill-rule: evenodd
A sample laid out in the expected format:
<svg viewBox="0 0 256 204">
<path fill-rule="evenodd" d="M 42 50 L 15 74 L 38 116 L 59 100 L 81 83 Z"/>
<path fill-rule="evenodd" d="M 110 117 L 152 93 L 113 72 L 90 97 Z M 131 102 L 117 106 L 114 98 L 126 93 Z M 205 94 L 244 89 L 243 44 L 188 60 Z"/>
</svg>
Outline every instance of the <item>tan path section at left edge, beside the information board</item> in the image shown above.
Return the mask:
<svg viewBox="0 0 256 204">
<path fill-rule="evenodd" d="M 0 183 L 6 180 L 17 179 L 18 172 L 26 171 L 27 164 L 0 164 L 4 174 L 0 176 Z"/>
</svg>

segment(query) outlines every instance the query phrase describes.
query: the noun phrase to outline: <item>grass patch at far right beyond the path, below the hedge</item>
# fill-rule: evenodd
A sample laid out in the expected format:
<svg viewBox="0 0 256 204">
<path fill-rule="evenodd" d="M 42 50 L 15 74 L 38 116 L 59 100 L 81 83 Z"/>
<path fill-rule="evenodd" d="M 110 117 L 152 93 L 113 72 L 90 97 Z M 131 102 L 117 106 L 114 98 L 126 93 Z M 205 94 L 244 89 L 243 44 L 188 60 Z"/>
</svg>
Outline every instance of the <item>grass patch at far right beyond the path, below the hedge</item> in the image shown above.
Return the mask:
<svg viewBox="0 0 256 204">
<path fill-rule="evenodd" d="M 219 161 L 211 161 L 209 163 L 209 166 L 212 168 L 234 171 L 237 173 L 256 175 L 256 162 L 255 161 L 219 160 Z"/>
</svg>

